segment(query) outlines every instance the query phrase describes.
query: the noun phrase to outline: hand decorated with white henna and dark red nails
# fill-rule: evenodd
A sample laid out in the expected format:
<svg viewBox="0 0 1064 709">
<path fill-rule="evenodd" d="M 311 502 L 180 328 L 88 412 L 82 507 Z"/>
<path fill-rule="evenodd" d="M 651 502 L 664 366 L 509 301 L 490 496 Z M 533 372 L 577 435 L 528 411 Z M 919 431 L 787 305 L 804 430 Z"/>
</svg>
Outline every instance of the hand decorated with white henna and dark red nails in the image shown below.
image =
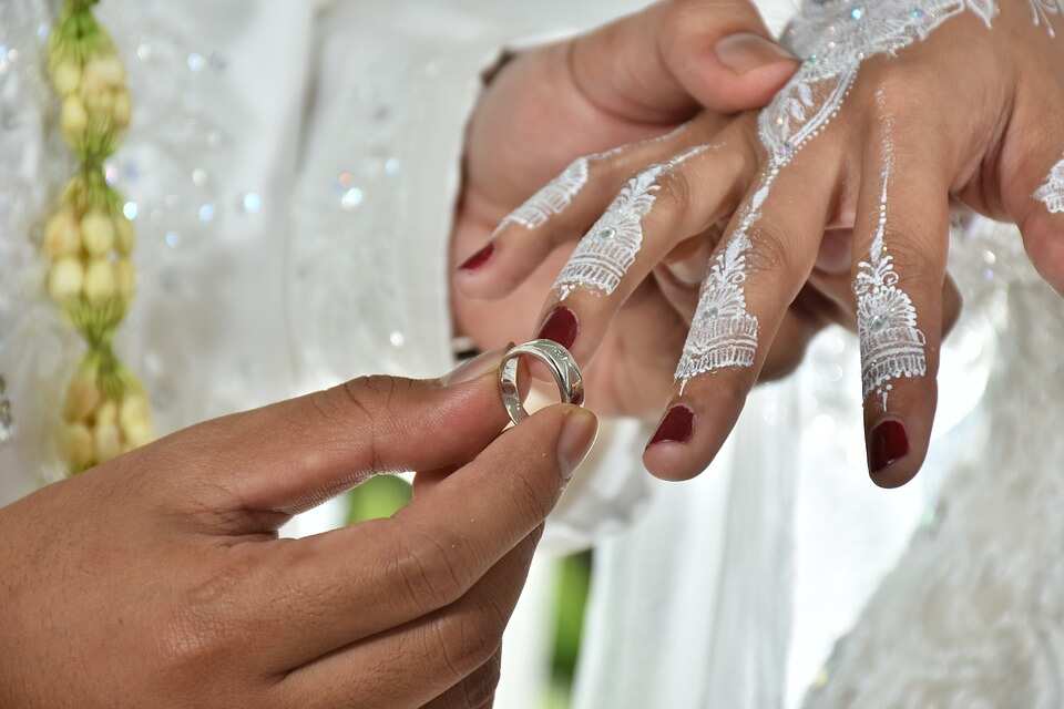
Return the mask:
<svg viewBox="0 0 1064 709">
<path fill-rule="evenodd" d="M 698 119 L 669 141 L 626 148 L 612 158 L 623 178 L 592 178 L 600 186 L 589 201 L 598 204 L 538 234 L 504 224 L 479 288 L 512 288 L 545 253 L 532 243 L 586 232 L 543 314 L 572 315 L 573 347 L 587 361 L 624 304 L 677 273 L 664 264 L 681 255 L 689 273 L 684 251 L 697 258 L 708 249 L 695 237 L 726 224 L 700 261 L 708 269 L 677 390 L 647 466 L 669 479 L 704 470 L 812 286 L 856 308 L 869 467 L 880 485 L 904 484 L 927 454 L 939 346 L 955 317 L 951 197 L 1020 225 L 1035 266 L 1064 289 L 1064 179 L 1053 168 L 1064 150 L 1064 43 L 1039 8 L 806 3 L 785 42 L 805 61 L 759 115 L 723 127 Z M 815 269 L 828 240 L 850 232 L 847 277 Z M 838 244 L 831 249 L 838 260 Z"/>
</svg>

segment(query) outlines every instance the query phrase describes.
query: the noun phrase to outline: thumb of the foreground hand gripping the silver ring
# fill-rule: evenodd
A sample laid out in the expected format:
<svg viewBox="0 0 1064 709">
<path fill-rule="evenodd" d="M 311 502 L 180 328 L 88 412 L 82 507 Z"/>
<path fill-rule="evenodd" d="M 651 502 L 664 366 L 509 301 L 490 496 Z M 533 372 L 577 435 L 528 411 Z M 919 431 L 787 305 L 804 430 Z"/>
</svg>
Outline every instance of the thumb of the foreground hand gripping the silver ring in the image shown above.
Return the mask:
<svg viewBox="0 0 1064 709">
<path fill-rule="evenodd" d="M 495 371 L 503 350 L 439 380 L 362 377 L 160 442 L 206 479 L 215 510 L 294 514 L 377 473 L 473 459 L 509 422 Z"/>
</svg>

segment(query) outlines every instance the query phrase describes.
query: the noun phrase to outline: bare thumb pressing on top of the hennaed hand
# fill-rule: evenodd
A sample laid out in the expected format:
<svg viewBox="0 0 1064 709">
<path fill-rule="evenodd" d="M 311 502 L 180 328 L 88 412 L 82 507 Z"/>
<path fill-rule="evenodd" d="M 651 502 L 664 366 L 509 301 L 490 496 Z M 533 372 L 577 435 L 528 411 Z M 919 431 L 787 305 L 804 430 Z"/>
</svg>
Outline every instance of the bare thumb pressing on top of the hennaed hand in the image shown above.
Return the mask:
<svg viewBox="0 0 1064 709">
<path fill-rule="evenodd" d="M 674 0 L 574 40 L 571 65 L 597 107 L 666 123 L 699 107 L 761 107 L 798 60 L 773 40 L 749 0 Z"/>
</svg>

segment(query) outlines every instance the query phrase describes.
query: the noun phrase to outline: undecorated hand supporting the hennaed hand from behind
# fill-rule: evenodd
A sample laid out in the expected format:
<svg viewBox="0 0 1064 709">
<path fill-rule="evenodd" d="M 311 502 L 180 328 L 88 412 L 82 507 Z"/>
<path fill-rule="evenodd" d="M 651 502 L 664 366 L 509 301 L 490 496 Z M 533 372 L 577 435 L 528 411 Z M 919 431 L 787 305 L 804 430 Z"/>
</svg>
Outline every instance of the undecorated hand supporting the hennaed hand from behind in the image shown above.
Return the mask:
<svg viewBox="0 0 1064 709">
<path fill-rule="evenodd" d="M 451 247 L 460 331 L 484 348 L 535 336 L 553 307 L 553 301 L 543 306 L 543 294 L 551 291 L 575 240 L 624 183 L 708 140 L 735 111 L 765 105 L 790 78 L 796 61 L 768 38 L 746 0 L 674 0 L 520 55 L 494 76 L 470 125 Z M 720 59 L 734 58 L 722 47 L 751 42 L 756 49 L 743 53 L 741 71 Z M 659 140 L 683 124 L 688 127 Z M 511 225 L 494 233 L 505 215 L 571 161 L 617 146 L 623 147 L 592 160 L 587 186 L 546 225 L 531 232 Z M 666 179 L 663 189 L 674 186 Z M 734 196 L 740 195 L 736 187 Z M 620 307 L 608 318 L 580 318 L 574 353 L 584 367 L 586 402 L 600 413 L 647 421 L 661 415 L 673 394 L 673 372 L 706 261 L 728 216 L 722 213 L 719 223 L 707 223 L 695 238 L 673 243 L 654 264 L 653 277 L 633 280 L 623 297 L 613 299 Z M 473 269 L 460 267 L 485 244 L 495 247 L 490 256 L 474 259 Z M 831 266 L 832 254 L 837 263 L 848 244 L 849 232 L 826 239 L 826 265 Z M 848 250 L 842 258 L 848 270 Z M 788 308 L 759 381 L 794 371 L 826 326 L 855 327 L 848 279 L 830 270 L 823 276 L 810 279 Z M 947 290 L 945 317 L 952 325 L 960 299 L 952 282 Z M 608 300 L 574 297 L 577 311 Z"/>
</svg>

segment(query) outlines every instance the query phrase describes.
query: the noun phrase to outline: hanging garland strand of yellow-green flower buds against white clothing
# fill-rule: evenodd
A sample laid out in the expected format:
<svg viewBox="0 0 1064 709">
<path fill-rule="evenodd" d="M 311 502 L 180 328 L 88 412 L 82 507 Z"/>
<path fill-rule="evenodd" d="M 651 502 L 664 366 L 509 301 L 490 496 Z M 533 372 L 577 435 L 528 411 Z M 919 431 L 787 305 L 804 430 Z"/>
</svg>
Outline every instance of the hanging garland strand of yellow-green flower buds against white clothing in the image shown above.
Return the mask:
<svg viewBox="0 0 1064 709">
<path fill-rule="evenodd" d="M 112 346 L 134 296 L 136 233 L 103 164 L 130 125 L 132 104 L 125 68 L 93 16 L 96 2 L 66 0 L 48 48 L 63 138 L 80 163 L 43 243 L 49 295 L 88 346 L 63 408 L 61 449 L 71 474 L 154 438 L 144 387 Z"/>
</svg>

